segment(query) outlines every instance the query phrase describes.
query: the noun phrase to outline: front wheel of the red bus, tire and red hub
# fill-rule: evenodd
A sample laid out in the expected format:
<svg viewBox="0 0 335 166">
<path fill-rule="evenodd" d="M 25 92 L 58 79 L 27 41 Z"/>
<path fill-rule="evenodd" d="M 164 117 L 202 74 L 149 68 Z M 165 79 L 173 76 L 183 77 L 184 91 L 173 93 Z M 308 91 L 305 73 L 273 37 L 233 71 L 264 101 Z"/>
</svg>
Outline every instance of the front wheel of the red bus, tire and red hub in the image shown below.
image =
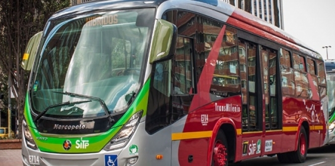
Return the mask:
<svg viewBox="0 0 335 166">
<path fill-rule="evenodd" d="M 228 165 L 228 142 L 222 130 L 216 135 L 212 157 L 212 166 Z"/>
</svg>

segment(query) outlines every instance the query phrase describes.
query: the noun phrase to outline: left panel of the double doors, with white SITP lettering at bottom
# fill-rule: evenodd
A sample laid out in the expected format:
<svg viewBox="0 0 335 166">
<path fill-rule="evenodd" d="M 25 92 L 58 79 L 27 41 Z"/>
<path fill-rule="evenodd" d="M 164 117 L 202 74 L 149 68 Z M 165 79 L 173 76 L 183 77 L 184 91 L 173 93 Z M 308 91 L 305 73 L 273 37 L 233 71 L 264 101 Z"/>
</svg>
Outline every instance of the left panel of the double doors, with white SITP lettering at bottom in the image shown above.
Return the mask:
<svg viewBox="0 0 335 166">
<path fill-rule="evenodd" d="M 239 40 L 238 46 L 242 92 L 241 159 L 246 159 L 260 156 L 263 151 L 261 59 L 257 44 Z"/>
</svg>

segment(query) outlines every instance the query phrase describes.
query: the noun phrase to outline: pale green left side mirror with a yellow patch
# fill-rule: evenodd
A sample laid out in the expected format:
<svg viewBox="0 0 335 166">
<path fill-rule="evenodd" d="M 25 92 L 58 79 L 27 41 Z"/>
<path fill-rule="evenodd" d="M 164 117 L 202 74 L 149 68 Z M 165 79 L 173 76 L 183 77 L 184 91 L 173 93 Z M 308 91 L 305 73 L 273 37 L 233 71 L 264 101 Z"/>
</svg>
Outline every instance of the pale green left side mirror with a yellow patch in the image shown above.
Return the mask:
<svg viewBox="0 0 335 166">
<path fill-rule="evenodd" d="M 26 46 L 25 52 L 23 54 L 21 67 L 24 70 L 30 71 L 37 53 L 38 46 L 42 39 L 43 31 L 38 32 L 33 37 L 31 37 Z"/>
</svg>

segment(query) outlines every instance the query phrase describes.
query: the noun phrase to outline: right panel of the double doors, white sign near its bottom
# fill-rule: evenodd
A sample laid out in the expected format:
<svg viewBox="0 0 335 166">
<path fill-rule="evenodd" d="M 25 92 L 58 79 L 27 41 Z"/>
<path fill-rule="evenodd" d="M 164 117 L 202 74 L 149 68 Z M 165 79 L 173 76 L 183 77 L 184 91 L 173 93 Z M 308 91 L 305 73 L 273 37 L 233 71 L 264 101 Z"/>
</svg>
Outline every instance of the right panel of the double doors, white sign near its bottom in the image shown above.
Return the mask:
<svg viewBox="0 0 335 166">
<path fill-rule="evenodd" d="M 280 88 L 277 54 L 278 51 L 264 46 L 261 48 L 261 87 L 263 99 L 263 126 L 265 129 L 264 141 L 262 141 L 262 155 L 271 155 L 281 152 L 282 128 L 281 114 L 279 114 L 278 89 Z"/>
</svg>

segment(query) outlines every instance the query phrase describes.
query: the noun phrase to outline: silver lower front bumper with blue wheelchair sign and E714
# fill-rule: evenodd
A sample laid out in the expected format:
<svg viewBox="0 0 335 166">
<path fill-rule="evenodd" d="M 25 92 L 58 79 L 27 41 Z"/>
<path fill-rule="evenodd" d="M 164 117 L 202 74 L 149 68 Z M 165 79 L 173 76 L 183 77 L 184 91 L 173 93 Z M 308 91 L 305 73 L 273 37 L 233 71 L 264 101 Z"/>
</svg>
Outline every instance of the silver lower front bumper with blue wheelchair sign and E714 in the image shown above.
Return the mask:
<svg viewBox="0 0 335 166">
<path fill-rule="evenodd" d="M 166 127 L 155 135 L 148 135 L 145 123 L 140 122 L 134 135 L 125 147 L 117 150 L 101 150 L 95 153 L 50 153 L 39 149 L 34 150 L 27 146 L 25 137 L 22 137 L 23 165 L 59 166 L 59 165 L 90 165 L 90 166 L 139 166 L 139 165 L 171 165 L 171 127 Z M 157 141 L 157 138 L 159 139 Z M 138 153 L 130 154 L 130 146 L 138 145 Z M 156 159 L 156 155 L 164 157 Z M 148 162 L 150 161 L 150 163 Z M 1 164 L 0 164 L 1 165 Z M 176 165 L 176 164 L 175 164 Z M 178 165 L 176 165 L 178 166 Z"/>
</svg>

